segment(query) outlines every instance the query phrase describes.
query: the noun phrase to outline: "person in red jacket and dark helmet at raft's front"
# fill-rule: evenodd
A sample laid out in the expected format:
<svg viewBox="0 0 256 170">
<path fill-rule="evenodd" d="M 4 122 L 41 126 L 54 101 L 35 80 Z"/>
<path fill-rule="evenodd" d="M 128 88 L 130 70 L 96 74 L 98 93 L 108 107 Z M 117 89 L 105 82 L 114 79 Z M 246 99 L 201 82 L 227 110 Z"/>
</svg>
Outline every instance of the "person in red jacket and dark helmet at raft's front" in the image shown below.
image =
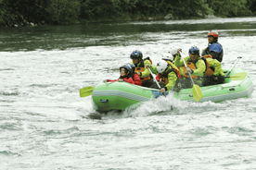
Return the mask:
<svg viewBox="0 0 256 170">
<path fill-rule="evenodd" d="M 103 82 L 113 82 L 113 81 L 125 81 L 131 84 L 134 84 L 134 79 L 130 76 L 130 73 L 133 72 L 132 67 L 129 65 L 124 65 L 120 67 L 120 77 L 119 79 L 105 79 Z"/>
</svg>

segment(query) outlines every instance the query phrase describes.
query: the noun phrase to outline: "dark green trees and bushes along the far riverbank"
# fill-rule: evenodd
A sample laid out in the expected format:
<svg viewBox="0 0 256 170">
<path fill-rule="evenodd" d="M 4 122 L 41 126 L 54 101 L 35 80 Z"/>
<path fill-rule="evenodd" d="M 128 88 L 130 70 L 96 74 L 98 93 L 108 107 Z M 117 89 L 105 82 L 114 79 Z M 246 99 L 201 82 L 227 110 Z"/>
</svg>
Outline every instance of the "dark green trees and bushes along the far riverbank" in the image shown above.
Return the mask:
<svg viewBox="0 0 256 170">
<path fill-rule="evenodd" d="M 256 0 L 0 0 L 0 26 L 256 14 Z M 201 14 L 201 15 L 199 15 Z"/>
</svg>

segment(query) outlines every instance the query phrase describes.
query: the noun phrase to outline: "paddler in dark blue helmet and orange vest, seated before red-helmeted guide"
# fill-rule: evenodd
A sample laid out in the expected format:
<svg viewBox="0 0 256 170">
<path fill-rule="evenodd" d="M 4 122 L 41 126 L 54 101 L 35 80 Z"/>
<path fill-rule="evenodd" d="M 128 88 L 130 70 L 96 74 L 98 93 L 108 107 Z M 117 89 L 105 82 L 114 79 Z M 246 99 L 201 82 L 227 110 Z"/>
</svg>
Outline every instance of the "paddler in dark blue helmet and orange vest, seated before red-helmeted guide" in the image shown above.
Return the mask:
<svg viewBox="0 0 256 170">
<path fill-rule="evenodd" d="M 204 71 L 206 69 L 206 66 L 202 58 L 199 56 L 198 47 L 192 46 L 188 50 L 188 55 L 189 56 L 186 56 L 184 58 L 188 70 L 186 70 L 186 67 L 184 67 L 185 65 L 180 55 L 177 55 L 174 60 L 174 64 L 176 67 L 184 67 L 183 80 L 181 82 L 182 87 L 192 88 L 191 79 L 189 78 L 187 71 L 190 72 L 192 79 L 194 79 L 194 82 L 198 84 L 198 86 L 202 86 L 202 79 L 204 77 Z"/>
</svg>

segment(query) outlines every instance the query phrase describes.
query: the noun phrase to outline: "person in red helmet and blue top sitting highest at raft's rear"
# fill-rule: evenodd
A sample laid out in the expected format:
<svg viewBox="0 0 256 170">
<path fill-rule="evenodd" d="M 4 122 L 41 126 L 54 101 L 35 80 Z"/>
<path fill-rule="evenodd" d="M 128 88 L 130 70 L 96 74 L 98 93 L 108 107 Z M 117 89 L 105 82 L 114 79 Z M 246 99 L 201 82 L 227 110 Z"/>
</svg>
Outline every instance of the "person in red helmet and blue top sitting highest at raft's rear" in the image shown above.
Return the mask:
<svg viewBox="0 0 256 170">
<path fill-rule="evenodd" d="M 211 55 L 212 59 L 217 59 L 220 63 L 223 61 L 224 49 L 221 43 L 218 42 L 219 33 L 217 31 L 210 30 L 207 33 L 208 47 L 203 50 L 203 55 Z"/>
</svg>

